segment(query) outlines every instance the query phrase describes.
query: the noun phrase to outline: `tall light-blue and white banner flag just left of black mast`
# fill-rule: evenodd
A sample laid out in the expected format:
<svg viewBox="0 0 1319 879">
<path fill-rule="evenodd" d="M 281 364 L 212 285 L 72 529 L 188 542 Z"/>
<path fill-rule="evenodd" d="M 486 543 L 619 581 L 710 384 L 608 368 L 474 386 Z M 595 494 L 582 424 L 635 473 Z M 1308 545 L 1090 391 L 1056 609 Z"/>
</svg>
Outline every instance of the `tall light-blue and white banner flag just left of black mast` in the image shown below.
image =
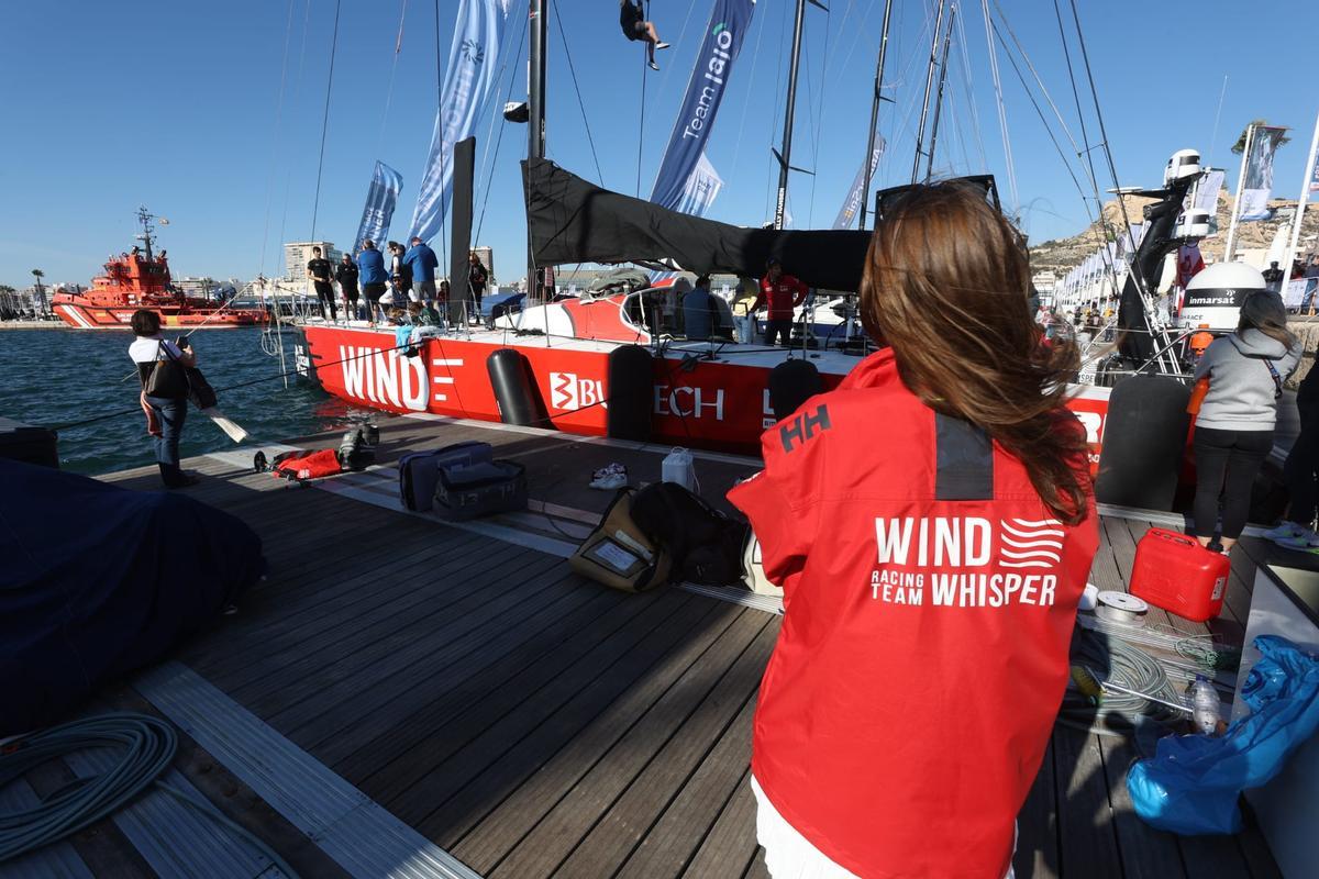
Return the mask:
<svg viewBox="0 0 1319 879">
<path fill-rule="evenodd" d="M 445 90 L 430 136 L 426 174 L 417 192 L 412 232 L 430 241 L 445 223 L 450 190 L 454 184 L 454 144 L 476 133 L 480 117 L 495 87 L 495 74 L 504 18 L 512 0 L 460 0 L 454 22 L 454 42 L 448 47 Z"/>
</svg>

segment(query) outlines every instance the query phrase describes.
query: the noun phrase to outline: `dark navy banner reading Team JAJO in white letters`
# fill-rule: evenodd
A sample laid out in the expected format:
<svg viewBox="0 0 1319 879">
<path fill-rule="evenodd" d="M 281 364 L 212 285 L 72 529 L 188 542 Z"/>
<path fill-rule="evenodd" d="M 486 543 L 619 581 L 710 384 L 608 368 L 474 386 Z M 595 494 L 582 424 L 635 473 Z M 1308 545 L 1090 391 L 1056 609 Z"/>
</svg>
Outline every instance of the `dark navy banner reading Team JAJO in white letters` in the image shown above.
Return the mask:
<svg viewBox="0 0 1319 879">
<path fill-rule="evenodd" d="M 678 119 L 669 134 L 660 174 L 656 177 L 650 200 L 660 207 L 682 210 L 687 182 L 706 152 L 706 140 L 715 124 L 719 103 L 728 90 L 728 76 L 741 49 L 743 37 L 751 28 L 754 0 L 715 0 L 710 13 L 706 40 L 696 55 L 696 67 L 687 82 L 687 95 L 682 100 Z"/>
</svg>

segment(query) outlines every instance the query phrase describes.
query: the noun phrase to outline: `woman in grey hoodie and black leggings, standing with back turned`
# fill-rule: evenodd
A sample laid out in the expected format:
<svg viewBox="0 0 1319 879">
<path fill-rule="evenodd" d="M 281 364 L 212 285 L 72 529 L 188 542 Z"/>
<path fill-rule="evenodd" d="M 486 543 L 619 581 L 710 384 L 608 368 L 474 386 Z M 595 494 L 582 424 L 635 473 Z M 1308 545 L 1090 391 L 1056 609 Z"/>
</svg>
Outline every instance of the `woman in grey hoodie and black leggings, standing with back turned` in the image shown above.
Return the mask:
<svg viewBox="0 0 1319 879">
<path fill-rule="evenodd" d="M 1213 540 L 1223 501 L 1221 551 L 1231 552 L 1245 528 L 1250 486 L 1273 448 L 1282 381 L 1301 362 L 1301 343 L 1287 331 L 1287 310 L 1275 293 L 1252 293 L 1241 303 L 1236 332 L 1200 357 L 1195 378 L 1210 390 L 1195 420 L 1195 535 Z"/>
</svg>

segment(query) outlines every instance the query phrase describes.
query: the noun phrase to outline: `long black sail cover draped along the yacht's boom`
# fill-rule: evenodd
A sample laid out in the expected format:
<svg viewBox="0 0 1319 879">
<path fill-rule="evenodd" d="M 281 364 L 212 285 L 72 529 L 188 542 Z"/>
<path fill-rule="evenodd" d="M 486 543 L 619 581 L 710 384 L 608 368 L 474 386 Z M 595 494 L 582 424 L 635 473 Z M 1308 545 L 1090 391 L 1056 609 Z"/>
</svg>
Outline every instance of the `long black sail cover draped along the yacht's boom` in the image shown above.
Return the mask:
<svg viewBox="0 0 1319 879">
<path fill-rule="evenodd" d="M 522 162 L 537 265 L 673 260 L 698 274 L 760 277 L 770 257 L 813 287 L 855 291 L 869 232 L 748 229 L 587 183 L 549 159 Z"/>
</svg>

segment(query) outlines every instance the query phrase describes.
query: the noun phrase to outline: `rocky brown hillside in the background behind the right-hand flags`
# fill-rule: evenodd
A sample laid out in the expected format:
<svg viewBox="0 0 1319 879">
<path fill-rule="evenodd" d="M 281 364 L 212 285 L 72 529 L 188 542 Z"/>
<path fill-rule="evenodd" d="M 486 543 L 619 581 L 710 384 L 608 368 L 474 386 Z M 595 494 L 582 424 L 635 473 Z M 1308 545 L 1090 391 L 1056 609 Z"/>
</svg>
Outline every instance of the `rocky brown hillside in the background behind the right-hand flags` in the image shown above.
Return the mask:
<svg viewBox="0 0 1319 879">
<path fill-rule="evenodd" d="M 1151 203 L 1151 199 L 1126 196 L 1126 216 L 1132 223 L 1142 220 L 1142 208 Z M 1295 212 L 1295 199 L 1273 199 L 1269 204 L 1274 208 L 1274 219 L 1258 223 L 1237 224 L 1237 253 L 1248 249 L 1268 249 L 1273 242 L 1273 236 L 1282 225 L 1290 225 Z M 1122 225 L 1121 211 L 1117 200 L 1104 204 L 1104 216 L 1109 227 L 1119 229 Z M 1232 216 L 1232 199 L 1224 192 L 1219 194 L 1219 231 L 1200 242 L 1200 253 L 1206 262 L 1219 262 L 1223 260 L 1223 249 L 1228 237 L 1228 223 Z M 1307 241 L 1307 239 L 1310 239 Z M 1103 228 L 1092 223 L 1088 228 L 1070 239 L 1043 241 L 1030 248 L 1030 268 L 1034 271 L 1053 271 L 1057 277 L 1063 277 L 1075 266 L 1093 253 L 1104 242 Z M 1314 253 L 1319 249 L 1319 206 L 1311 204 L 1306 210 L 1304 220 L 1301 225 L 1301 245 L 1298 256 Z"/>
</svg>

